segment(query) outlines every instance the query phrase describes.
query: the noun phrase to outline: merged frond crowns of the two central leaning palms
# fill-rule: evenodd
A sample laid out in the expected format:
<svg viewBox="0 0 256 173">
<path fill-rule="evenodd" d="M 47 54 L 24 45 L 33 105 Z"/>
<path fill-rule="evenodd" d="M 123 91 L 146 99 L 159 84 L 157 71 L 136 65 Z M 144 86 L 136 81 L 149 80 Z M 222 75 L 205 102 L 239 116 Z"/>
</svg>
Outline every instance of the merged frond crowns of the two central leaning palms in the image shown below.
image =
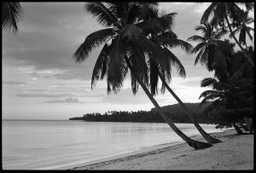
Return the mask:
<svg viewBox="0 0 256 173">
<path fill-rule="evenodd" d="M 125 58 L 143 83 L 151 86 L 153 94 L 157 88 L 155 69 L 168 80 L 174 64 L 178 72 L 185 75 L 180 61 L 166 49 L 166 46 L 178 45 L 191 49 L 189 43 L 178 40 L 172 32 L 174 13 L 158 16 L 155 3 L 86 3 L 84 9 L 96 16 L 102 26 L 108 26 L 91 33 L 74 53 L 76 61 L 84 61 L 92 49 L 104 43 L 92 73 L 92 88 L 97 80 L 107 76 L 108 93 L 118 92 L 128 72 Z M 166 35 L 169 37 L 163 37 Z M 136 94 L 138 84 L 132 72 L 131 88 Z"/>
</svg>

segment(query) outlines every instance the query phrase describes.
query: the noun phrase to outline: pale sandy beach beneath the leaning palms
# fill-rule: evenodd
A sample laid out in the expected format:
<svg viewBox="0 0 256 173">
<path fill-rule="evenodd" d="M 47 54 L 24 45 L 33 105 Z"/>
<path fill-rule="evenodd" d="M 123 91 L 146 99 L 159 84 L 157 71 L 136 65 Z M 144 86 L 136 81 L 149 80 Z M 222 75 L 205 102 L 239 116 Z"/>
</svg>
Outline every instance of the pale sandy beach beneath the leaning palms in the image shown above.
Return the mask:
<svg viewBox="0 0 256 173">
<path fill-rule="evenodd" d="M 161 145 L 69 166 L 67 170 L 253 170 L 253 135 L 237 136 L 230 129 L 212 136 L 223 142 L 203 150 L 186 143 Z"/>
</svg>

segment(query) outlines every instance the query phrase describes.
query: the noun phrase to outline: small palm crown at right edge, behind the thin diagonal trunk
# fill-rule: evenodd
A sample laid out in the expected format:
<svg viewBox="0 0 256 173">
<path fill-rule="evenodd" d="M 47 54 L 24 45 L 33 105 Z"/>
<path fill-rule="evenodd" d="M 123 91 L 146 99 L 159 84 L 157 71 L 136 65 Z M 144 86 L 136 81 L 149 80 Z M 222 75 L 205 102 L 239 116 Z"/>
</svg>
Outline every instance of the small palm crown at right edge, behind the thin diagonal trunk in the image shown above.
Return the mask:
<svg viewBox="0 0 256 173">
<path fill-rule="evenodd" d="M 254 32 L 254 29 L 248 26 L 249 24 L 252 24 L 254 20 L 252 17 L 249 17 L 248 14 L 249 14 L 249 10 L 244 12 L 244 16 L 241 18 L 240 23 L 234 22 L 231 24 L 233 28 L 236 28 L 236 30 L 233 31 L 234 34 L 239 32 L 239 43 L 246 45 L 247 49 L 248 47 L 247 47 L 246 38 L 248 36 L 250 40 L 253 42 L 253 36 L 251 35 L 250 32 Z M 231 34 L 230 34 L 230 37 L 232 37 Z"/>
</svg>

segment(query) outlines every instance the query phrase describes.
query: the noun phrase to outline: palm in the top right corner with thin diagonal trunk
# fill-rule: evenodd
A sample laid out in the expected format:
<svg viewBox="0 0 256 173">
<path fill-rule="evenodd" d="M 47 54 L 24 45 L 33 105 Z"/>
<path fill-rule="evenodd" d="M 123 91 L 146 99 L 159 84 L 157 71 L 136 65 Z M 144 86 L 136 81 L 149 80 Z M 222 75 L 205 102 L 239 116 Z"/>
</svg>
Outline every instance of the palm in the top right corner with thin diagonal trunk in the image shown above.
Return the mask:
<svg viewBox="0 0 256 173">
<path fill-rule="evenodd" d="M 254 66 L 253 60 L 249 55 L 247 55 L 247 51 L 241 47 L 241 43 L 239 43 L 235 37 L 235 33 L 231 29 L 229 18 L 236 23 L 240 23 L 242 21 L 243 11 L 238 7 L 237 4 L 245 5 L 247 10 L 254 9 L 254 3 L 211 3 L 211 5 L 202 15 L 201 23 L 205 23 L 211 14 L 213 14 L 212 20 L 215 24 L 218 23 L 218 25 L 224 28 L 224 24 L 227 23 L 232 37 L 235 39 L 242 53 L 247 57 L 247 61 L 249 61 L 252 66 Z"/>
</svg>

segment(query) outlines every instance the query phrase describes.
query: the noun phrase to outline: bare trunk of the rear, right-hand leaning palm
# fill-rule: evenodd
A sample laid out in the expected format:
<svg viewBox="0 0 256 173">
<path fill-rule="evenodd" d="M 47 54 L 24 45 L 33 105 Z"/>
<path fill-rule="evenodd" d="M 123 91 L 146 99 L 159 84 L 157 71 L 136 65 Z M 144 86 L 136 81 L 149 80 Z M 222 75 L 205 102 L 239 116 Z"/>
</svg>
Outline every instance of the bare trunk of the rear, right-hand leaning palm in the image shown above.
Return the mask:
<svg viewBox="0 0 256 173">
<path fill-rule="evenodd" d="M 172 96 L 177 100 L 177 102 L 180 104 L 181 107 L 183 107 L 183 109 L 185 110 L 185 112 L 187 113 L 187 115 L 189 116 L 190 120 L 192 121 L 193 124 L 195 124 L 196 129 L 201 133 L 201 136 L 203 136 L 205 138 L 205 140 L 211 144 L 214 143 L 219 143 L 222 142 L 212 136 L 210 136 L 209 134 L 207 134 L 207 132 L 205 130 L 203 130 L 201 128 L 201 126 L 195 121 L 194 116 L 192 115 L 191 112 L 189 112 L 189 109 L 183 104 L 183 101 L 181 101 L 177 95 L 173 92 L 173 90 L 169 87 L 169 85 L 166 83 L 165 78 L 163 78 L 160 73 L 158 73 L 162 83 L 165 85 L 166 89 L 169 90 L 169 92 L 172 94 Z"/>
</svg>

